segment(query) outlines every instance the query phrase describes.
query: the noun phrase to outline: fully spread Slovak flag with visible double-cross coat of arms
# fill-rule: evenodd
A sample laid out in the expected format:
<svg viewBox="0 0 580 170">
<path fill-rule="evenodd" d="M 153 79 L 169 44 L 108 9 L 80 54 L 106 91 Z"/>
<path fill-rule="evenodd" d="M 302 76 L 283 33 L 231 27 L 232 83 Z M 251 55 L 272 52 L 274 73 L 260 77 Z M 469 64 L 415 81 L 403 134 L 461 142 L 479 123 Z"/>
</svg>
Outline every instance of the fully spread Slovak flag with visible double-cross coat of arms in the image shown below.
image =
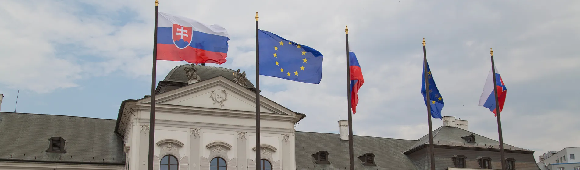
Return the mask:
<svg viewBox="0 0 580 170">
<path fill-rule="evenodd" d="M 157 60 L 195 64 L 226 62 L 230 40 L 226 28 L 162 12 L 157 17 Z"/>
</svg>

